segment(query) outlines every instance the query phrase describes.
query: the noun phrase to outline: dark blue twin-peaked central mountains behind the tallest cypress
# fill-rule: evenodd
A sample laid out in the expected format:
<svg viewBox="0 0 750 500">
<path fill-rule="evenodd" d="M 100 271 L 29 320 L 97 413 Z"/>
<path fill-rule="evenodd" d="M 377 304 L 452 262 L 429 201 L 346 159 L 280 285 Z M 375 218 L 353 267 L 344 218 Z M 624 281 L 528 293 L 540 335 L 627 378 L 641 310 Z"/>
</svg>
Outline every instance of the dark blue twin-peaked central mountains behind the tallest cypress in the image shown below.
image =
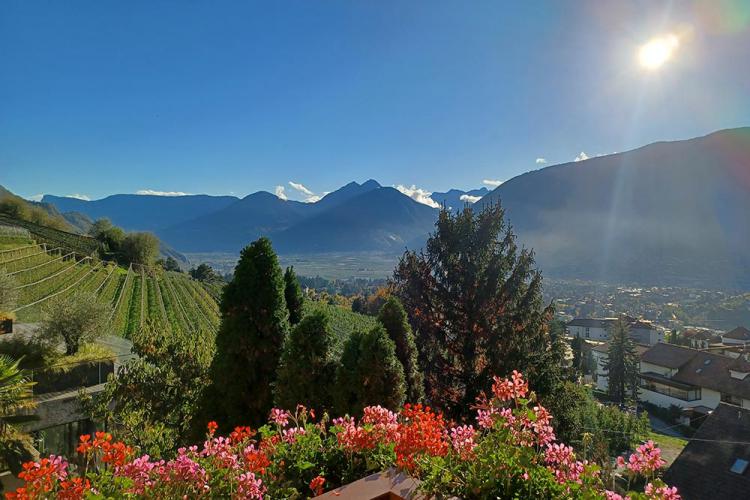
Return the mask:
<svg viewBox="0 0 750 500">
<path fill-rule="evenodd" d="M 437 210 L 374 180 L 351 182 L 316 203 L 253 193 L 217 212 L 157 232 L 184 252 L 239 252 L 260 236 L 277 251 L 401 251 L 424 241 Z"/>
</svg>

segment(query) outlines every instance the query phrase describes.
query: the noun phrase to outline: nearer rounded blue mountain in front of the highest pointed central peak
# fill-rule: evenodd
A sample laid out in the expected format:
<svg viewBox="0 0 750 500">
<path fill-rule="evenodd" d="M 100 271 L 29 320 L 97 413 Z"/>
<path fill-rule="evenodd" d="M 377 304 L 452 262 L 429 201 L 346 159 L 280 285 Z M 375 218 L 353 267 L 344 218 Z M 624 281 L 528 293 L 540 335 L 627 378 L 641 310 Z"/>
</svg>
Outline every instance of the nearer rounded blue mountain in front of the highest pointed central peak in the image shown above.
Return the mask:
<svg viewBox="0 0 750 500">
<path fill-rule="evenodd" d="M 420 247 L 438 211 L 380 187 L 271 235 L 282 253 L 402 252 Z"/>
</svg>

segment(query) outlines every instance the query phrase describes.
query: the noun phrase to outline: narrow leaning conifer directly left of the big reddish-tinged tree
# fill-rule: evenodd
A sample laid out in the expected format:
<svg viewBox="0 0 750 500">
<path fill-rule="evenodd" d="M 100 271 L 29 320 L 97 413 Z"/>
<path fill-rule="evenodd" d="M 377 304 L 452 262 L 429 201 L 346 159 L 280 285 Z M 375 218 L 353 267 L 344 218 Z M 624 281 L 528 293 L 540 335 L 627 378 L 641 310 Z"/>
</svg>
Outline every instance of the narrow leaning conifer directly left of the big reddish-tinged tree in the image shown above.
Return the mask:
<svg viewBox="0 0 750 500">
<path fill-rule="evenodd" d="M 404 367 L 406 378 L 406 400 L 410 403 L 422 402 L 424 400 L 424 376 L 419 371 L 417 344 L 401 301 L 396 297 L 389 297 L 380 308 L 378 320 L 396 344 L 396 357 Z"/>
</svg>

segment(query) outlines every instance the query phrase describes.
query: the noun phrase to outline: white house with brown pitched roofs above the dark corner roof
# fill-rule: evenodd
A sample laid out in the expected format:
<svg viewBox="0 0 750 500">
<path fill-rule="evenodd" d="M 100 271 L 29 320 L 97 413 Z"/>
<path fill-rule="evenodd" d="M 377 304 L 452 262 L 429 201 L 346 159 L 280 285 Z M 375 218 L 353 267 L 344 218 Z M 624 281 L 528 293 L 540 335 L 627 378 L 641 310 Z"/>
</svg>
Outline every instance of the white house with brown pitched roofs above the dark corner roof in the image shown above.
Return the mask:
<svg viewBox="0 0 750 500">
<path fill-rule="evenodd" d="M 750 408 L 750 362 L 673 344 L 656 344 L 641 355 L 641 401 L 669 408 Z"/>
</svg>

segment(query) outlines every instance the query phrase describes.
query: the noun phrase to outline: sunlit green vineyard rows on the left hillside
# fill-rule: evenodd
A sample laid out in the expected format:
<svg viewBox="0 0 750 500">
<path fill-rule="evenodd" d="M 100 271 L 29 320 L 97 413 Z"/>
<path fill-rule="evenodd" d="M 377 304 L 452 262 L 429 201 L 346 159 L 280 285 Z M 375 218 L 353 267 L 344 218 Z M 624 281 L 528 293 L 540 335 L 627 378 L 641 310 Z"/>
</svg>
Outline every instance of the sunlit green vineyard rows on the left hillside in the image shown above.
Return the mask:
<svg viewBox="0 0 750 500">
<path fill-rule="evenodd" d="M 34 233 L 32 233 L 34 234 Z M 34 234 L 36 237 L 36 234 Z M 189 276 L 80 257 L 69 247 L 46 243 L 11 246 L 0 238 L 0 269 L 15 281 L 19 322 L 39 321 L 50 299 L 88 292 L 112 308 L 112 333 L 130 336 L 147 321 L 172 332 L 215 332 L 219 307 L 214 287 Z"/>
</svg>

